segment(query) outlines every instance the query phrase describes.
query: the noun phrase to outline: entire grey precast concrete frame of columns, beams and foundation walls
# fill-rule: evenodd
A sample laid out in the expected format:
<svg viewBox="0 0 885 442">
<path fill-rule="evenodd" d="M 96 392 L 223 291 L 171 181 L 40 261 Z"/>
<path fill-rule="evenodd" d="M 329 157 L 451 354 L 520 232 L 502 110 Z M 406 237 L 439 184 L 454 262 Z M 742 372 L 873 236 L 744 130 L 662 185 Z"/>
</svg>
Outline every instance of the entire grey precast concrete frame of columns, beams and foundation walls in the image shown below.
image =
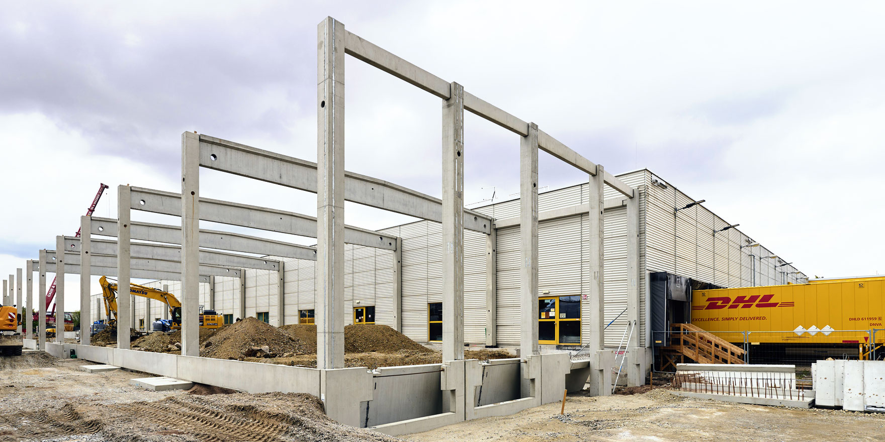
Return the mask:
<svg viewBox="0 0 885 442">
<path fill-rule="evenodd" d="M 58 237 L 56 252 L 42 251 L 39 270 L 56 270 L 63 278 L 67 267 L 89 274 L 96 268 L 110 268 L 112 260 L 116 260 L 116 273 L 120 286 L 127 286 L 130 278 L 137 275 L 160 274 L 160 268 L 143 269 L 147 263 L 135 253 L 135 248 L 152 250 L 150 253 L 167 251 L 165 246 L 141 245 L 131 240 L 160 241 L 168 244 L 181 244 L 182 281 L 182 351 L 181 355 L 146 354 L 129 349 L 127 329 L 131 318 L 123 312 L 129 311 L 127 296 L 119 297 L 119 347 L 98 348 L 75 344 L 53 344 L 48 347 L 52 354 L 62 357 L 68 348 L 76 349 L 81 358 L 90 361 L 113 363 L 132 370 L 144 370 L 204 382 L 212 385 L 230 386 L 245 391 L 261 391 L 254 382 L 260 378 L 268 381 L 267 385 L 277 385 L 274 379 L 289 382 L 293 385 L 277 385 L 273 391 L 311 392 L 326 402 L 327 414 L 342 423 L 366 426 L 373 423 L 373 428 L 389 434 L 402 434 L 413 431 L 429 430 L 441 425 L 456 423 L 488 415 L 512 414 L 520 409 L 534 407 L 543 403 L 559 400 L 564 388 L 580 389 L 590 376 L 601 382 L 611 370 L 603 365 L 607 352 L 601 346 L 596 350 L 595 357 L 589 362 L 572 362 L 569 354 L 538 354 L 537 352 L 537 254 L 538 254 L 538 213 L 537 205 L 537 150 L 542 149 L 553 156 L 571 164 L 589 174 L 598 188 L 604 185 L 612 187 L 627 199 L 637 196 L 634 188 L 627 186 L 620 179 L 604 171 L 602 166 L 593 164 L 572 149 L 556 141 L 549 134 L 543 133 L 536 125 L 529 124 L 486 103 L 475 95 L 466 92 L 458 83 L 450 83 L 423 71 L 415 65 L 381 50 L 370 42 L 366 42 L 355 34 L 346 31 L 344 26 L 335 19 L 327 18 L 319 24 L 318 45 L 318 162 L 312 164 L 304 160 L 281 156 L 273 152 L 250 148 L 230 141 L 200 135 L 183 133 L 181 137 L 181 194 L 160 193 L 150 189 L 120 186 L 118 192 L 118 219 L 103 220 L 93 217 L 89 220 L 91 234 L 116 232 L 116 253 L 97 254 L 100 247 L 113 247 L 112 241 L 93 240 L 90 237 L 80 241 L 80 250 L 67 253 L 73 244 L 67 239 Z M 443 198 L 436 199 L 429 195 L 419 194 L 411 189 L 399 187 L 381 179 L 361 176 L 345 171 L 344 164 L 344 56 L 350 55 L 369 65 L 380 68 L 415 85 L 443 100 Z M 464 230 L 481 232 L 488 235 L 486 260 L 487 269 L 496 266 L 496 225 L 492 217 L 480 212 L 466 210 L 463 204 L 464 186 L 464 110 L 468 110 L 486 118 L 523 137 L 520 142 L 523 160 L 520 161 L 520 189 L 527 203 L 519 216 L 519 224 L 524 231 L 523 247 L 520 253 L 524 256 L 525 266 L 521 274 L 522 312 L 520 323 L 523 336 L 527 337 L 529 351 L 524 351 L 519 359 L 501 362 L 478 362 L 464 360 Z M 203 269 L 212 266 L 201 266 L 201 246 L 221 248 L 246 253 L 262 253 L 266 255 L 282 255 L 281 250 L 288 250 L 298 259 L 311 259 L 312 248 L 294 247 L 281 241 L 261 240 L 245 235 L 228 232 L 201 231 L 199 220 L 210 218 L 214 222 L 231 225 L 258 225 L 256 218 L 236 220 L 236 217 L 251 215 L 258 211 L 250 211 L 243 205 L 234 203 L 203 200 L 199 189 L 199 168 L 205 167 L 218 171 L 226 171 L 251 179 L 260 179 L 286 187 L 293 187 L 317 194 L 318 213 L 314 221 L 317 238 L 315 259 L 317 261 L 316 292 L 318 304 L 316 319 L 318 329 L 318 369 L 302 369 L 296 367 L 279 367 L 266 364 L 250 364 L 249 362 L 206 360 L 196 357 L 198 354 L 197 306 L 198 284 Z M 177 198 L 177 202 L 175 199 Z M 161 202 L 154 203 L 157 199 Z M 150 200 L 150 202 L 149 202 Z M 349 228 L 343 224 L 344 202 L 358 202 L 383 210 L 419 217 L 443 225 L 443 364 L 430 364 L 416 367 L 392 367 L 381 370 L 343 369 L 343 273 L 344 244 L 349 239 L 359 241 L 361 245 L 375 243 L 374 247 L 393 250 L 394 261 L 402 260 L 402 241 L 399 238 L 386 238 L 380 234 L 378 242 L 366 236 L 361 229 Z M 135 203 L 134 203 L 135 202 Z M 181 217 L 181 229 L 162 225 L 146 225 L 132 222 L 130 210 L 150 206 L 148 211 L 156 211 Z M 174 208 L 181 204 L 181 210 Z M 635 205 L 635 204 L 634 204 Z M 629 205 L 628 205 L 629 207 Z M 227 208 L 227 209 L 222 209 Z M 591 215 L 598 212 L 601 217 L 604 200 L 601 192 L 596 194 L 586 209 Z M 203 211 L 205 210 L 206 215 Z M 227 211 L 229 210 L 229 211 Z M 169 213 L 176 212 L 177 213 Z M 264 210 L 265 215 L 271 212 Z M 279 211 L 274 212 L 277 216 Z M 287 232 L 305 232 L 310 229 L 309 217 L 288 214 L 289 220 L 297 221 L 297 228 L 290 226 Z M 286 221 L 282 219 L 281 221 Z M 82 221 L 81 222 L 85 222 Z M 107 226 L 106 229 L 101 223 Z M 263 225 L 265 230 L 283 229 L 285 226 Z M 275 230 L 279 232 L 280 230 Z M 350 233 L 349 233 L 350 232 Z M 602 236 L 603 225 L 598 223 L 596 247 L 600 250 L 597 302 L 602 302 Z M 223 236 L 222 236 L 223 235 Z M 113 236 L 113 235 L 111 235 Z M 160 240 L 159 238 L 163 238 Z M 178 242 L 176 242 L 178 241 Z M 205 242 L 204 242 L 205 241 Z M 214 241 L 214 242 L 213 242 Z M 387 243 L 386 246 L 384 243 Z M 75 245 L 74 245 L 75 246 Z M 288 246 L 288 248 L 287 248 Z M 268 248 L 273 248 L 269 250 Z M 259 251 L 257 251 L 259 250 Z M 310 257 L 305 257 L 309 251 Z M 207 251 L 208 252 L 208 251 Z M 149 253 L 147 251 L 143 252 Z M 214 252 L 212 252 L 214 254 Z M 88 258 L 84 257 L 89 255 Z M 55 255 L 56 263 L 48 263 L 47 256 Z M 76 256 L 76 258 L 74 257 Z M 79 261 L 77 261 L 79 258 Z M 174 260 L 163 260 L 156 257 L 152 262 L 177 263 Z M 71 262 L 65 267 L 65 261 Z M 79 263 L 80 265 L 75 265 Z M 87 269 L 89 267 L 89 269 Z M 142 271 L 143 273 L 136 273 Z M 277 271 L 282 271 L 282 264 Z M 172 271 L 165 273 L 174 274 Z M 394 268 L 399 274 L 398 267 Z M 244 273 L 240 272 L 241 293 L 244 292 Z M 401 290 L 402 282 L 395 287 Z M 63 279 L 62 279 L 63 280 Z M 280 278 L 282 280 L 282 278 Z M 487 275 L 487 298 L 496 295 L 494 278 Z M 282 285 L 278 289 L 282 291 Z M 281 293 L 281 292 L 280 292 Z M 283 297 L 278 293 L 278 307 Z M 63 296 L 63 283 L 59 286 L 59 294 Z M 242 295 L 242 294 L 241 294 Z M 61 306 L 64 305 L 61 298 Z M 214 303 L 214 301 L 212 301 Z M 241 302 L 241 309 L 244 302 Z M 598 307 L 598 306 L 597 306 Z M 401 317 L 401 306 L 397 297 L 394 301 L 395 323 L 397 328 Z M 600 307 L 601 309 L 601 307 Z M 64 309 L 61 309 L 62 315 Z M 242 312 L 244 316 L 245 312 Z M 489 308 L 488 317 L 496 316 L 496 309 Z M 589 324 L 589 321 L 588 321 Z M 594 327 L 603 326 L 601 320 Z M 125 333 L 124 333 L 125 331 Z M 534 343 L 529 341 L 534 339 Z M 494 331 L 487 337 L 489 345 L 495 345 Z M 209 367 L 212 367 L 210 370 Z M 174 370 L 173 374 L 171 370 Z M 252 376 L 237 376 L 247 371 Z M 487 379 L 487 370 L 497 374 Z M 208 373 L 212 371 L 212 373 Z M 223 375 L 223 376 L 222 376 Z M 499 376 L 500 375 L 500 376 Z M 419 381 L 419 378 L 427 380 Z M 500 385 L 501 379 L 510 379 L 510 384 Z M 373 388 L 378 382 L 389 384 L 383 392 Z M 489 384 L 492 383 L 492 384 Z M 477 395 L 477 387 L 486 387 L 483 394 L 486 401 Z M 515 387 L 515 388 L 514 388 Z M 417 390 L 416 390 L 417 389 Z M 397 394 L 413 396 L 416 391 L 427 389 L 436 394 L 440 400 L 439 408 L 426 407 L 379 415 L 385 408 L 396 408 L 403 403 Z M 604 392 L 600 392 L 604 393 Z M 489 399 L 494 398 L 494 399 Z M 494 400 L 488 402 L 489 400 Z M 362 408 L 363 403 L 375 402 L 381 407 Z M 435 403 L 433 400 L 429 401 Z M 381 411 L 379 411 L 381 410 Z M 365 415 L 361 415 L 365 413 Z M 362 418 L 365 417 L 365 420 Z"/>
</svg>

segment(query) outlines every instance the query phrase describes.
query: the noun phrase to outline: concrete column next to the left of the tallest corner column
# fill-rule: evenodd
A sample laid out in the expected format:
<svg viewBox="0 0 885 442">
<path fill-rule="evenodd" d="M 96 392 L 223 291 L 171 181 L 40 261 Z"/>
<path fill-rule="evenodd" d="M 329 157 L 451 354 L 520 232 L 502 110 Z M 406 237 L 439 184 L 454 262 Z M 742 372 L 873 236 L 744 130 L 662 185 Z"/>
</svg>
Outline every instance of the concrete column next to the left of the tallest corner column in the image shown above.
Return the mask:
<svg viewBox="0 0 885 442">
<path fill-rule="evenodd" d="M 181 354 L 200 355 L 200 136 L 181 133 Z"/>
</svg>

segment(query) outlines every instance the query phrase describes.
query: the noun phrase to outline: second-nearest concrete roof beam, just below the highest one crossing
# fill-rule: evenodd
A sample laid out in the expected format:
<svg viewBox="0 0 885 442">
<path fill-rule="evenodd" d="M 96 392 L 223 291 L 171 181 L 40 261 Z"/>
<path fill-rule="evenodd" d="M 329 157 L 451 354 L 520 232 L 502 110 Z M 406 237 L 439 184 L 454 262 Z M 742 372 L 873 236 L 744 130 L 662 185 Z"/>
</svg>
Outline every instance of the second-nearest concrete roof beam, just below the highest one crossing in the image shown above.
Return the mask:
<svg viewBox="0 0 885 442">
<path fill-rule="evenodd" d="M 181 194 L 132 187 L 132 209 L 181 217 Z M 308 238 L 317 237 L 316 217 L 236 202 L 200 198 L 200 219 Z M 394 250 L 396 247 L 395 236 L 350 225 L 344 226 L 344 242 L 386 250 Z"/>
</svg>

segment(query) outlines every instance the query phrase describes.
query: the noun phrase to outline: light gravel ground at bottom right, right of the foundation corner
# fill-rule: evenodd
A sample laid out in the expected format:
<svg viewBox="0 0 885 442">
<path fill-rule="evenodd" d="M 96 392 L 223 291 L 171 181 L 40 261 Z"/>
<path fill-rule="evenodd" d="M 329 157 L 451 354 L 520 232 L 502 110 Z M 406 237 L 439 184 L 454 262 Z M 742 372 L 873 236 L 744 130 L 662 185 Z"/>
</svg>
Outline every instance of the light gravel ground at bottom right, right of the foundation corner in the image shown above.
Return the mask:
<svg viewBox="0 0 885 442">
<path fill-rule="evenodd" d="M 516 415 L 406 435 L 412 441 L 835 442 L 885 440 L 885 415 L 696 400 L 656 389 L 608 397 L 570 396 Z"/>
</svg>

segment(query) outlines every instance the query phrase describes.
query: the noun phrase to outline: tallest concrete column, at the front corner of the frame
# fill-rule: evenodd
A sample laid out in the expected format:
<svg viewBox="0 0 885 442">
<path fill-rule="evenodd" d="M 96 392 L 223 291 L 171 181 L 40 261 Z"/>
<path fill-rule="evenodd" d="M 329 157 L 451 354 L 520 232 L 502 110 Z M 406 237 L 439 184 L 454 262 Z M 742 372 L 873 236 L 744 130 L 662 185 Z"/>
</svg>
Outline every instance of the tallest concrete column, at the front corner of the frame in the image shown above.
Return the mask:
<svg viewBox="0 0 885 442">
<path fill-rule="evenodd" d="M 317 50 L 317 368 L 344 367 L 344 24 L 327 17 Z"/>
</svg>

